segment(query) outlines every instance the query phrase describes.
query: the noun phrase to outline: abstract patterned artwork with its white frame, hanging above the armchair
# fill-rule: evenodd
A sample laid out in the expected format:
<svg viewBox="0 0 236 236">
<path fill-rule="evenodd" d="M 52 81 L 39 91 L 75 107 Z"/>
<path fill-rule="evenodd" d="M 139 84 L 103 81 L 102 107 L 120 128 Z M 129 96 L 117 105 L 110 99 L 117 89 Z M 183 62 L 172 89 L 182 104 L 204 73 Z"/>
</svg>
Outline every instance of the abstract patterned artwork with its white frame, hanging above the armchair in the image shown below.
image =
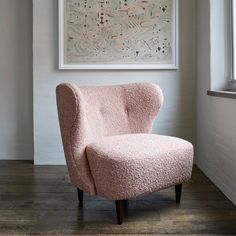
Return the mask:
<svg viewBox="0 0 236 236">
<path fill-rule="evenodd" d="M 58 0 L 59 69 L 178 69 L 178 0 Z"/>
</svg>

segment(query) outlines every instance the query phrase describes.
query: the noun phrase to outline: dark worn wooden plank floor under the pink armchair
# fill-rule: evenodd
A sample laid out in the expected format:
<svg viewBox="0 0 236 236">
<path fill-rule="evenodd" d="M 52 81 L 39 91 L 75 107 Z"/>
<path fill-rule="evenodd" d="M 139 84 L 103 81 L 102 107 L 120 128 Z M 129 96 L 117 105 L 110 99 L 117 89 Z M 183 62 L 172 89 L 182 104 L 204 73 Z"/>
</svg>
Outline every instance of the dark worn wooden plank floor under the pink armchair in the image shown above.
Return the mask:
<svg viewBox="0 0 236 236">
<path fill-rule="evenodd" d="M 236 207 L 194 167 L 175 204 L 174 188 L 130 200 L 123 225 L 115 204 L 76 189 L 63 166 L 0 162 L 0 234 L 236 235 Z"/>
</svg>

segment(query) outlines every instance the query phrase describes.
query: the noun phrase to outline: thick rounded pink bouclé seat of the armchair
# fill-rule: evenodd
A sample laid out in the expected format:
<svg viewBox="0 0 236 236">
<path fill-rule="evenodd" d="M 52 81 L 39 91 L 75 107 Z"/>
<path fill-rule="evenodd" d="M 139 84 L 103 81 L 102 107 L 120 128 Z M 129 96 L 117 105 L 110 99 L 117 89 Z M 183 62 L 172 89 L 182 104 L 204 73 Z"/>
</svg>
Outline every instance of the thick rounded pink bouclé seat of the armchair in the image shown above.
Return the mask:
<svg viewBox="0 0 236 236">
<path fill-rule="evenodd" d="M 86 147 L 97 194 L 113 200 L 137 197 L 191 177 L 193 146 L 175 137 L 127 134 Z"/>
</svg>

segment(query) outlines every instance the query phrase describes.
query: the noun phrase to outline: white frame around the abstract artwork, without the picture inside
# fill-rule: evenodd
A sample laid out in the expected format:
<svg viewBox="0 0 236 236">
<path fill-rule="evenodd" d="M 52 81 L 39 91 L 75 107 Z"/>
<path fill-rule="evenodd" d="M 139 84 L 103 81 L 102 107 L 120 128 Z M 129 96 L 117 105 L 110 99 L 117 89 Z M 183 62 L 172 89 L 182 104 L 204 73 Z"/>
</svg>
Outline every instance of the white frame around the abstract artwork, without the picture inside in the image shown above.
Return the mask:
<svg viewBox="0 0 236 236">
<path fill-rule="evenodd" d="M 58 64 L 59 70 L 177 70 L 179 68 L 179 0 L 173 1 L 172 24 L 172 63 L 142 64 L 142 63 L 67 63 L 65 61 L 65 1 L 58 0 Z M 114 0 L 116 1 L 116 0 Z"/>
</svg>

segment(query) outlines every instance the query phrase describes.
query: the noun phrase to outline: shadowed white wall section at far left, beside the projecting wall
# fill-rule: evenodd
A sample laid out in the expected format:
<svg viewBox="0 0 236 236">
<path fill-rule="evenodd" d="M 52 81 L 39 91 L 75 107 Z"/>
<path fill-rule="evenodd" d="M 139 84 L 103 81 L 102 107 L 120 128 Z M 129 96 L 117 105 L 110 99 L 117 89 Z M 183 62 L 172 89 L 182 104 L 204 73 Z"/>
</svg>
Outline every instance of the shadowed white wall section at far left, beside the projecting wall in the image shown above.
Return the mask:
<svg viewBox="0 0 236 236">
<path fill-rule="evenodd" d="M 32 2 L 0 1 L 0 159 L 33 158 Z"/>
</svg>

